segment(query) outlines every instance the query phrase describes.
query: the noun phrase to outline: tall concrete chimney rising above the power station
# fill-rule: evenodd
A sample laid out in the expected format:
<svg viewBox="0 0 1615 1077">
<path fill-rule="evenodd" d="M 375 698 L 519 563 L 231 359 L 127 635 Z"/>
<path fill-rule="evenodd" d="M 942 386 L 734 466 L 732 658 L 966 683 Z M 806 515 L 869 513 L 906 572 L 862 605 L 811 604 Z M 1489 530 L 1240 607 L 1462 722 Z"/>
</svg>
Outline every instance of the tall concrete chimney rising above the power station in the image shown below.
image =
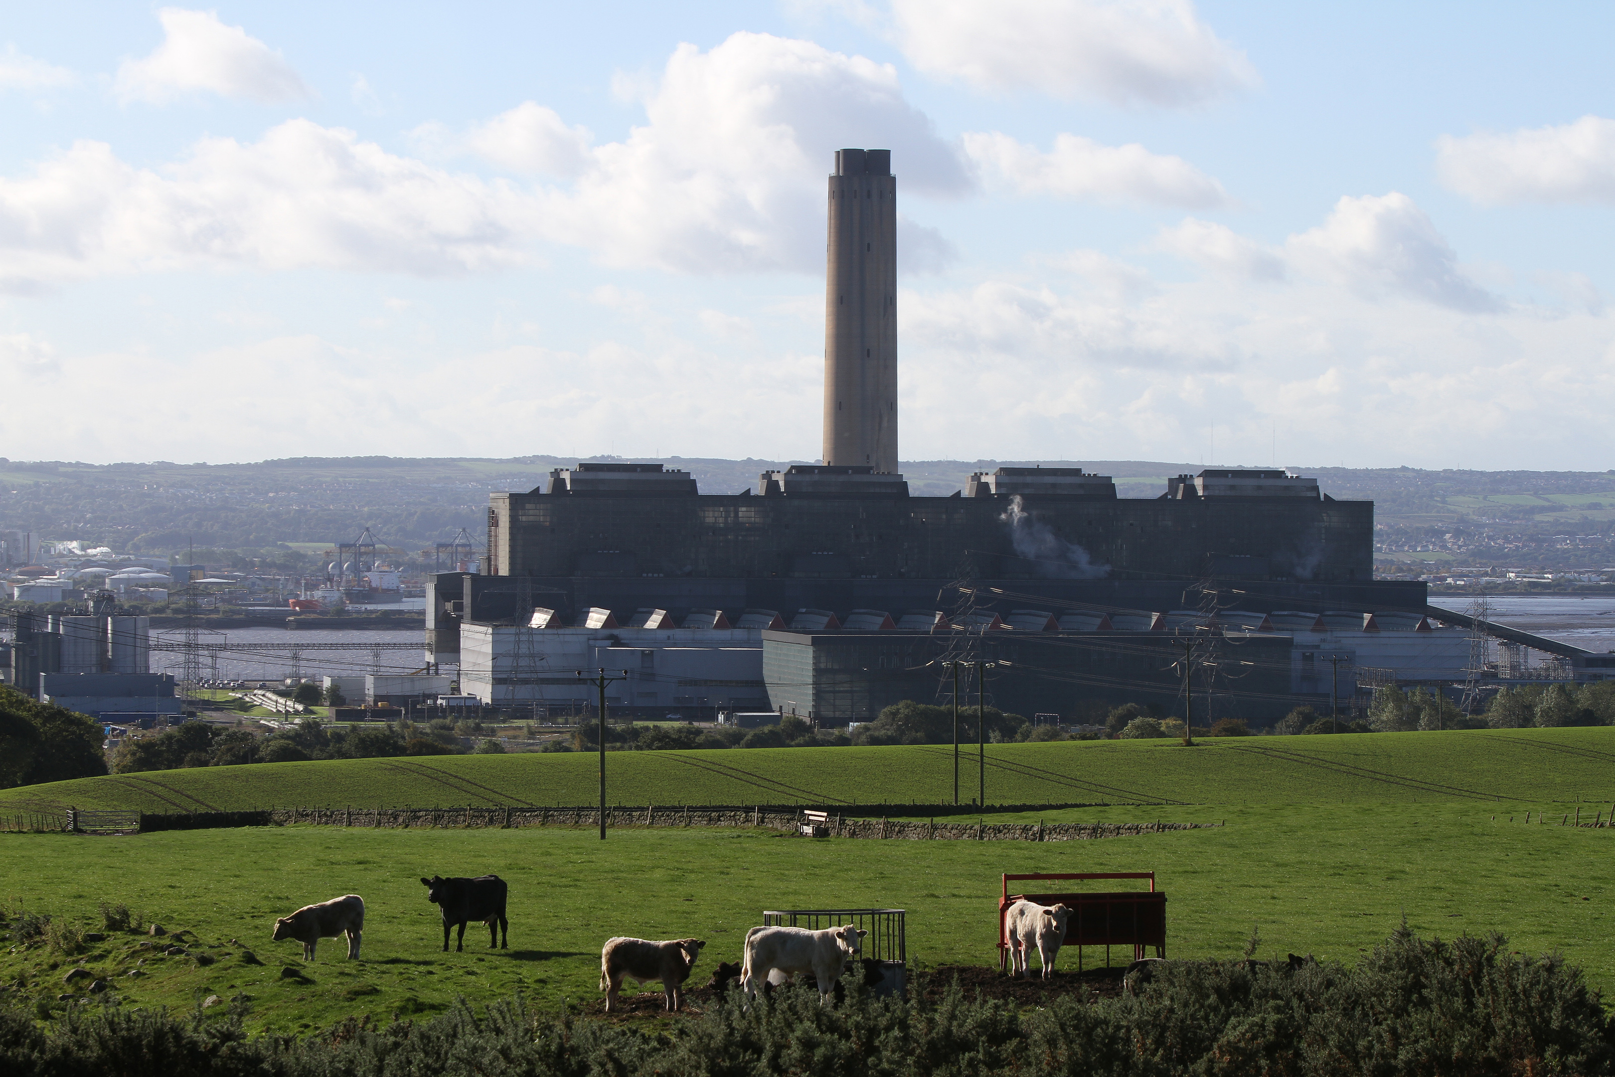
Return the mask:
<svg viewBox="0 0 1615 1077">
<path fill-rule="evenodd" d="M 824 462 L 898 470 L 898 181 L 837 150 L 824 307 Z"/>
</svg>

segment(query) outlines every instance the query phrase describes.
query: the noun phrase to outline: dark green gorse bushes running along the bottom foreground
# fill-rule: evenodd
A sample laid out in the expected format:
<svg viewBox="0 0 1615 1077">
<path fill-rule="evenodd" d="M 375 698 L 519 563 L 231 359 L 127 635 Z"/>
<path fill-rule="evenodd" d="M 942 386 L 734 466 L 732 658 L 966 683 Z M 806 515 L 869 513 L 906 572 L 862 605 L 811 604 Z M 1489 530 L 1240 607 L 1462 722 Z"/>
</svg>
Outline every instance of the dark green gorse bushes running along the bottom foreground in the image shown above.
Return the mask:
<svg viewBox="0 0 1615 1077">
<path fill-rule="evenodd" d="M 45 999 L 37 999 L 40 1004 Z M 971 998 L 958 983 L 912 998 L 843 1004 L 812 988 L 745 1008 L 738 991 L 672 1027 L 544 1014 L 520 999 L 481 1016 L 459 1006 L 426 1022 L 346 1020 L 294 1040 L 242 1032 L 244 1011 L 203 1020 L 116 1006 L 74 1008 L 42 1029 L 32 1009 L 0 1011 L 0 1072 L 535 1074 L 864 1077 L 1504 1077 L 1612 1072 L 1610 1024 L 1581 972 L 1523 958 L 1502 937 L 1452 943 L 1395 932 L 1357 967 L 1174 961 L 1137 995 L 1040 1006 Z M 244 1003 L 242 1003 L 244 1004 Z M 45 1008 L 44 1012 L 53 1012 Z M 44 1016 L 44 1014 L 39 1014 Z"/>
</svg>

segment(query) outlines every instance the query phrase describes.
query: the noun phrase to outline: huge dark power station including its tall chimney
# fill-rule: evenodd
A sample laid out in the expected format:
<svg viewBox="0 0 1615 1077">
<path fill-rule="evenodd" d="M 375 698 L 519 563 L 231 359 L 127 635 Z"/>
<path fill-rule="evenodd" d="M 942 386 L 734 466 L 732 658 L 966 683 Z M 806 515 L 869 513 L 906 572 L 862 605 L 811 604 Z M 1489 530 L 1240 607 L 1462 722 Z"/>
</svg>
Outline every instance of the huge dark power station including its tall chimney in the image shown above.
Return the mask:
<svg viewBox="0 0 1615 1077">
<path fill-rule="evenodd" d="M 938 664 L 982 659 L 1000 662 L 988 702 L 1076 717 L 1124 701 L 1182 712 L 1184 639 L 1214 636 L 1239 672 L 1193 691 L 1261 720 L 1336 686 L 1308 652 L 1373 651 L 1395 673 L 1386 639 L 1418 636 L 1408 680 L 1450 675 L 1466 654 L 1457 630 L 1363 620 L 1410 623 L 1424 585 L 1376 581 L 1373 504 L 1311 478 L 1206 468 L 1122 499 L 1080 468 L 1003 467 L 948 497 L 911 496 L 896 349 L 891 155 L 840 150 L 822 463 L 703 494 L 659 463 L 583 462 L 493 494 L 486 575 L 428 589 L 428 660 L 457 662 L 460 691 L 494 706 L 583 707 L 578 670 L 604 667 L 628 672 L 610 701 L 646 717 L 856 722 L 945 699 Z M 1355 630 L 1328 622 L 1344 614 Z"/>
</svg>

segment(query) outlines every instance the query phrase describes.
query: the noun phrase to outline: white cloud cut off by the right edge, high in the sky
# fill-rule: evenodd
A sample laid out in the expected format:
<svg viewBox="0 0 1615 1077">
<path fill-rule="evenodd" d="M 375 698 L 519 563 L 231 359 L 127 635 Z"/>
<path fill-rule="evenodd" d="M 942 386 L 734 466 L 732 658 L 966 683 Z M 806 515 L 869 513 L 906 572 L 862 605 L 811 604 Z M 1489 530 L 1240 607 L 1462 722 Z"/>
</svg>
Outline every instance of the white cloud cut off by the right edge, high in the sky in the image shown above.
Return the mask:
<svg viewBox="0 0 1615 1077">
<path fill-rule="evenodd" d="M 1557 128 L 1436 139 L 1441 182 L 1507 202 L 1615 202 L 1615 119 L 1583 116 Z"/>
</svg>

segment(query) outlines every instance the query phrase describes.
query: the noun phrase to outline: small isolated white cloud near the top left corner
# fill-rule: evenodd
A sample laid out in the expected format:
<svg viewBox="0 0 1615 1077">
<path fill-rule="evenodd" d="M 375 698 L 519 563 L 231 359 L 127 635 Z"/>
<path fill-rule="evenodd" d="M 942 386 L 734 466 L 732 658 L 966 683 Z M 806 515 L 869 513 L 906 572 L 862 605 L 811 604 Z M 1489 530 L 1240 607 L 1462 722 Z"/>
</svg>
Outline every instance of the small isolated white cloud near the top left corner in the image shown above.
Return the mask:
<svg viewBox="0 0 1615 1077">
<path fill-rule="evenodd" d="M 124 102 L 162 103 L 197 90 L 263 103 L 312 95 L 278 52 L 215 11 L 163 8 L 157 18 L 163 44 L 118 68 L 113 89 Z"/>
</svg>

